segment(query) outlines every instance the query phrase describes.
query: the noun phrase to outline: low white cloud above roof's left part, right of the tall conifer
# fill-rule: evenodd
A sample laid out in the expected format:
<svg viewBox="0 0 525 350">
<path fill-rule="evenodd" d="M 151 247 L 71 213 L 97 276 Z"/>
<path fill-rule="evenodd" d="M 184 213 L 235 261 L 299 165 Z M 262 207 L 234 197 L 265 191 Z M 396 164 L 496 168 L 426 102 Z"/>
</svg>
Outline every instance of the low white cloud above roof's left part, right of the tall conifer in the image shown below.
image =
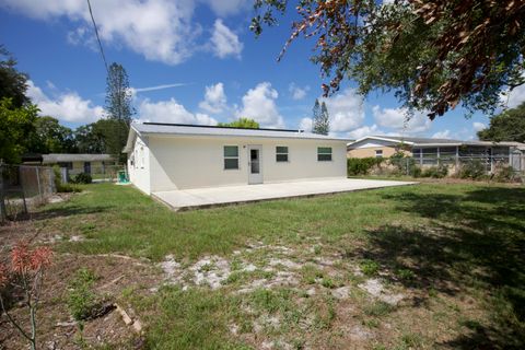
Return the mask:
<svg viewBox="0 0 525 350">
<path fill-rule="evenodd" d="M 138 115 L 141 121 L 217 125 L 214 118 L 206 114 L 192 114 L 174 98 L 159 102 L 145 98 L 139 105 Z"/>
</svg>

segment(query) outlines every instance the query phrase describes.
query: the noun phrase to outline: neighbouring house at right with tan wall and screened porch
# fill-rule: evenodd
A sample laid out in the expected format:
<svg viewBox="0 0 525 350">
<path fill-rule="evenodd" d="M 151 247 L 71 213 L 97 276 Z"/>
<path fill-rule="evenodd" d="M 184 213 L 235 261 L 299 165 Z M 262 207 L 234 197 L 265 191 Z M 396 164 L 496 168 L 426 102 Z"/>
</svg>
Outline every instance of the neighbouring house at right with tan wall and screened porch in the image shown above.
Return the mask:
<svg viewBox="0 0 525 350">
<path fill-rule="evenodd" d="M 397 151 L 420 165 L 458 164 L 478 159 L 490 165 L 511 164 L 525 170 L 525 144 L 520 142 L 460 141 L 450 139 L 369 136 L 348 144 L 349 158 L 388 158 Z"/>
</svg>

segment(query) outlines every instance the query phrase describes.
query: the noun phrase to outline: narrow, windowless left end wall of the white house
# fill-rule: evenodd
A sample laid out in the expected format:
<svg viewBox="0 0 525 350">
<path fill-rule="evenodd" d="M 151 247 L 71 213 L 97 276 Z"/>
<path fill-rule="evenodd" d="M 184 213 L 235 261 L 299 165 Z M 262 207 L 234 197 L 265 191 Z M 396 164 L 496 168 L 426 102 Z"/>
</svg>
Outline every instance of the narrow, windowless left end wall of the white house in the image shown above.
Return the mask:
<svg viewBox="0 0 525 350">
<path fill-rule="evenodd" d="M 133 149 L 128 154 L 128 174 L 129 180 L 145 194 L 151 192 L 151 166 L 150 166 L 150 149 L 148 139 L 137 137 L 135 139 Z M 131 162 L 133 160 L 133 162 Z M 131 164 L 132 163 L 132 164 Z"/>
</svg>

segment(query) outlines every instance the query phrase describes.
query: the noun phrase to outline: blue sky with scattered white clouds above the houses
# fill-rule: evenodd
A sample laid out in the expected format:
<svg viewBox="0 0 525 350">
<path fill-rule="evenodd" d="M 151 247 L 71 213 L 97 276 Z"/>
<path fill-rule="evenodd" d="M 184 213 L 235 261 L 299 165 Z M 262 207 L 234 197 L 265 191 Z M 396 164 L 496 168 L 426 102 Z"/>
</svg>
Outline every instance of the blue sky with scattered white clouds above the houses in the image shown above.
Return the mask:
<svg viewBox="0 0 525 350">
<path fill-rule="evenodd" d="M 107 60 L 121 63 L 133 88 L 137 118 L 215 124 L 252 117 L 265 127 L 305 128 L 319 97 L 313 42 L 292 44 L 293 9 L 276 28 L 255 38 L 248 0 L 92 0 Z M 28 94 L 43 114 L 69 127 L 103 115 L 106 73 L 84 0 L 0 0 L 0 43 L 31 78 Z M 456 108 L 406 125 L 390 94 L 362 101 L 352 82 L 326 100 L 331 131 L 342 137 L 418 135 L 475 138 L 488 118 Z M 516 105 L 525 92 L 511 96 Z"/>
</svg>

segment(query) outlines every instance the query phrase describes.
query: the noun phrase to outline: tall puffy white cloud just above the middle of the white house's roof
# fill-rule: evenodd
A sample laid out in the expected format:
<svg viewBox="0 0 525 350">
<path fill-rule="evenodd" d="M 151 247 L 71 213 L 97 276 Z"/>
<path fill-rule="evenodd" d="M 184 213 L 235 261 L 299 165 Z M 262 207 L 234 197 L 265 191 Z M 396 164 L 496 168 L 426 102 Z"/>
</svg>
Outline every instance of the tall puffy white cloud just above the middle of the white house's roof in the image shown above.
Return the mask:
<svg viewBox="0 0 525 350">
<path fill-rule="evenodd" d="M 277 109 L 277 90 L 269 82 L 257 84 L 243 96 L 243 107 L 236 112 L 237 118 L 253 118 L 262 127 L 282 128 L 284 119 Z"/>
</svg>

